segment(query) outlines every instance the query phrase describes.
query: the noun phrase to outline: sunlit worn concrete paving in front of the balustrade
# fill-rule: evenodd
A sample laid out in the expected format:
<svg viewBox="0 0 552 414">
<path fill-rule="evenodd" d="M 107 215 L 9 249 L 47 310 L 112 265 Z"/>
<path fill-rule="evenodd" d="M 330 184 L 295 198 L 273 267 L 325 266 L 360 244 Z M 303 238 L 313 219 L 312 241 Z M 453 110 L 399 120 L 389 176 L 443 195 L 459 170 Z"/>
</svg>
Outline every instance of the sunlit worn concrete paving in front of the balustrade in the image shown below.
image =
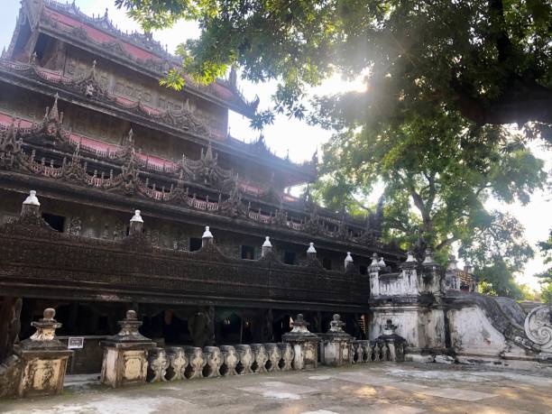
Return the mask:
<svg viewBox="0 0 552 414">
<path fill-rule="evenodd" d="M 551 413 L 552 373 L 446 365 L 372 363 L 111 390 L 68 377 L 60 397 L 2 400 L 11 414 L 255 412 L 357 414 Z"/>
</svg>

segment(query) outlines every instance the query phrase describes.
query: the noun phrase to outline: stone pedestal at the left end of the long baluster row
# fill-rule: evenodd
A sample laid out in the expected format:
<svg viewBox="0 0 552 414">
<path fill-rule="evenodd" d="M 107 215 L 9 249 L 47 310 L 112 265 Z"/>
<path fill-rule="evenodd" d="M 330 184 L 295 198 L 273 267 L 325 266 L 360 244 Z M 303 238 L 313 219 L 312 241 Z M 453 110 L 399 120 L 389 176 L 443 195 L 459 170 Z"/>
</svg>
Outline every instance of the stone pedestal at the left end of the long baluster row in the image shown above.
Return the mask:
<svg viewBox="0 0 552 414">
<path fill-rule="evenodd" d="M 100 343 L 104 347 L 102 383 L 119 388 L 145 382 L 148 350 L 155 343 L 138 332 L 141 325 L 136 312 L 129 310 L 126 317 L 119 322 L 121 331 Z"/>
</svg>

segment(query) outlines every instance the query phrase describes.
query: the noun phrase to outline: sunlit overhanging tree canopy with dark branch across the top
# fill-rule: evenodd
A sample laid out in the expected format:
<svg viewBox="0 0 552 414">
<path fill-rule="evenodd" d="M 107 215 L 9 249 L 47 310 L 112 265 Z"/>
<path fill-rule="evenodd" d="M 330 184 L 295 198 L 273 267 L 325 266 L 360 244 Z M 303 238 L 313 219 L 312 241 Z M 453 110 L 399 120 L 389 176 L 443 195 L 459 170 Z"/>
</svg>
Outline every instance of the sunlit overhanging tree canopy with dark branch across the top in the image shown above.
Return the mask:
<svg viewBox="0 0 552 414">
<path fill-rule="evenodd" d="M 475 124 L 552 123 L 547 0 L 115 0 L 146 30 L 196 20 L 182 70 L 212 82 L 238 64 L 278 79 L 274 110 L 302 116 L 305 87 L 367 72 L 368 90 L 322 99 L 339 123 L 385 128 L 427 106 Z M 172 78 L 176 80 L 176 78 Z M 169 82 L 170 84 L 170 82 Z M 178 82 L 177 82 L 178 85 Z M 359 105 L 361 103 L 361 105 Z M 316 114 L 319 115 L 319 114 Z M 316 116 L 317 117 L 317 116 Z M 270 117 L 268 118 L 270 119 Z"/>
</svg>

